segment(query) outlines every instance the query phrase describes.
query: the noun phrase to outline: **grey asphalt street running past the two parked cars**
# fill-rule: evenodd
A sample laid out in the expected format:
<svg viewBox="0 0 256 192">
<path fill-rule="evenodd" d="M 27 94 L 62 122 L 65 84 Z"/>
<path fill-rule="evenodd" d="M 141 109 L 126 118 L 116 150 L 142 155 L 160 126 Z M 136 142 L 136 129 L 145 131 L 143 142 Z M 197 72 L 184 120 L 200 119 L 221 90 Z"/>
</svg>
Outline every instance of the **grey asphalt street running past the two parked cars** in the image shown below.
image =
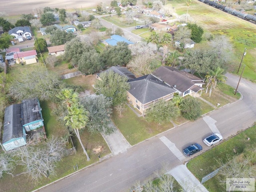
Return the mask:
<svg viewBox="0 0 256 192">
<path fill-rule="evenodd" d="M 238 76 L 226 74 L 227 84 L 236 87 Z M 246 80 L 240 81 L 238 88 L 243 99 L 224 106 L 208 114 L 216 120 L 215 125 L 224 139 L 236 134 L 252 125 L 256 120 L 256 85 Z M 180 150 L 189 144 L 198 142 L 203 146 L 203 152 L 210 149 L 202 140 L 211 134 L 203 118 L 195 122 L 188 122 L 150 138 L 127 150 L 127 152 L 113 156 L 99 162 L 76 174 L 50 184 L 40 192 L 122 192 L 128 191 L 136 181 L 143 181 L 159 170 L 163 165 L 174 168 L 181 162 L 159 139 L 165 136 Z M 186 158 L 189 160 L 189 158 Z"/>
</svg>

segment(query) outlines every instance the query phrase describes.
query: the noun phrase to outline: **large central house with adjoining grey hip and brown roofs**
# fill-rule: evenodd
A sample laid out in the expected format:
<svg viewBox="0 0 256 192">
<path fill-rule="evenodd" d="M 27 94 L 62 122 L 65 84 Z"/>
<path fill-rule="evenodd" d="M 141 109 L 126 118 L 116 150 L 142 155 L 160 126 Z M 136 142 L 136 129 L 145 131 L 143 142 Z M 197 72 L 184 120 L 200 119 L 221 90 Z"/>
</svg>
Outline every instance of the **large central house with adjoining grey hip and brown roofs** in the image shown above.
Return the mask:
<svg viewBox="0 0 256 192">
<path fill-rule="evenodd" d="M 142 114 L 160 100 L 171 100 L 174 93 L 184 97 L 201 95 L 203 80 L 169 66 L 160 66 L 152 74 L 128 80 L 128 101 Z"/>
</svg>

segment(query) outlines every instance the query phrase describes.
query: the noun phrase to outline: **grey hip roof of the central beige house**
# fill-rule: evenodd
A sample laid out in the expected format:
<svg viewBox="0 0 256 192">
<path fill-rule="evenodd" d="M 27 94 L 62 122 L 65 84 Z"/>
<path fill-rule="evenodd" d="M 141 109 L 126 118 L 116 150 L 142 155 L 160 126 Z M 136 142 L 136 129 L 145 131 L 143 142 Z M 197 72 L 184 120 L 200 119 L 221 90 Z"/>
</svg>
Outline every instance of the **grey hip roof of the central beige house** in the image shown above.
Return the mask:
<svg viewBox="0 0 256 192">
<path fill-rule="evenodd" d="M 132 94 L 142 104 L 154 101 L 158 98 L 176 92 L 173 88 L 155 78 L 151 74 L 128 81 Z"/>
</svg>

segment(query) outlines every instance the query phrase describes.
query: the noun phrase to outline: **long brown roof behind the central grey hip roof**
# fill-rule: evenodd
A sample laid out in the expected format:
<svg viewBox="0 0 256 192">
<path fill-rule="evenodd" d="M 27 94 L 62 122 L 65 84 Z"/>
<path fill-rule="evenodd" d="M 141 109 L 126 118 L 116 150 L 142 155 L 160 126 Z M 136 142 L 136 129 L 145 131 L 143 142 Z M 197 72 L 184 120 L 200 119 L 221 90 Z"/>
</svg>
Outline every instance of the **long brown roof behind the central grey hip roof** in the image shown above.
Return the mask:
<svg viewBox="0 0 256 192">
<path fill-rule="evenodd" d="M 160 66 L 152 74 L 170 86 L 176 85 L 176 89 L 181 92 L 190 89 L 195 83 L 203 83 L 202 79 L 169 66 Z"/>
</svg>

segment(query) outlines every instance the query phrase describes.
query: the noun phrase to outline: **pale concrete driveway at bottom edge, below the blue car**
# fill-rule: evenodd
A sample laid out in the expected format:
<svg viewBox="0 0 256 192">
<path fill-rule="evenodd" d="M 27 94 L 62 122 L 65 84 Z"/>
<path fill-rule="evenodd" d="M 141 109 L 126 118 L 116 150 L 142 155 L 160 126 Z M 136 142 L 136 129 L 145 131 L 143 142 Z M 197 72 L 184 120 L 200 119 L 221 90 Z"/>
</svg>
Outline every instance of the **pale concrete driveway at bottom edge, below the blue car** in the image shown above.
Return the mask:
<svg viewBox="0 0 256 192">
<path fill-rule="evenodd" d="M 172 175 L 186 192 L 208 192 L 208 190 L 188 170 L 186 165 L 179 165 L 167 172 Z"/>
</svg>

